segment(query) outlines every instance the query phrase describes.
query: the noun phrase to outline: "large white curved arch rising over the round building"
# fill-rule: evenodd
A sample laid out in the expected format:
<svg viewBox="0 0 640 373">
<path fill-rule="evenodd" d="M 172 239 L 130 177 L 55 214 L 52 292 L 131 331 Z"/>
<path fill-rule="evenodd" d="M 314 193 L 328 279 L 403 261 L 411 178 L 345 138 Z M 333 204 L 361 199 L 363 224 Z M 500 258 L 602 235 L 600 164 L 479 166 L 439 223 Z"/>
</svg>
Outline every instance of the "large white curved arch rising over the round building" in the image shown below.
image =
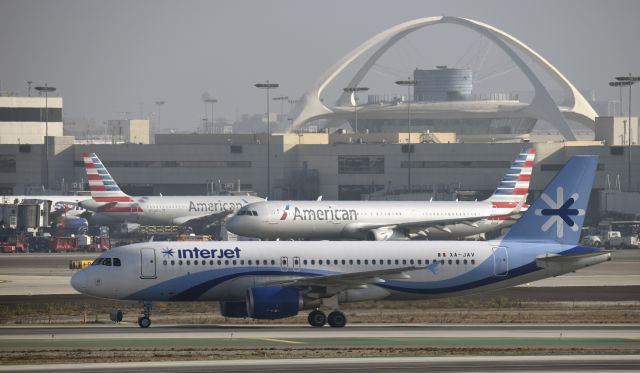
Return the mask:
<svg viewBox="0 0 640 373">
<path fill-rule="evenodd" d="M 320 95 L 322 91 L 327 87 L 333 79 L 336 78 L 347 66 L 349 66 L 355 59 L 367 52 L 377 44 L 386 40 L 382 46 L 380 46 L 376 52 L 363 64 L 354 77 L 349 82 L 349 86 L 356 86 L 362 81 L 364 76 L 369 72 L 371 67 L 376 61 L 398 40 L 402 39 L 407 34 L 410 34 L 423 27 L 432 26 L 435 24 L 450 23 L 456 24 L 462 27 L 474 30 L 493 41 L 500 49 L 502 49 L 520 68 L 525 74 L 527 79 L 531 82 L 535 89 L 534 99 L 531 104 L 523 109 L 526 113 L 534 116 L 538 119 L 546 120 L 558 128 L 567 140 L 575 140 L 575 135 L 571 132 L 565 116 L 572 119 L 583 122 L 587 125 L 593 126 L 595 122 L 596 112 L 589 105 L 588 101 L 582 96 L 582 94 L 564 77 L 553 65 L 551 65 L 542 56 L 536 53 L 534 50 L 526 46 L 524 43 L 514 38 L 513 36 L 501 31 L 493 26 L 459 17 L 427 17 L 420 18 L 405 23 L 401 23 L 394 27 L 391 27 L 372 38 L 368 39 L 350 53 L 345 55 L 336 64 L 334 64 L 325 74 L 318 80 L 318 82 L 312 86 L 298 101 L 293 108 L 291 116 L 294 118 L 292 122 L 292 129 L 296 129 L 307 121 L 321 117 L 326 114 L 330 114 L 333 111 L 325 106 L 320 101 Z M 530 57 L 535 63 L 540 65 L 544 71 L 546 71 L 561 88 L 564 89 L 565 102 L 563 102 L 562 112 L 558 105 L 553 101 L 551 94 L 544 87 L 542 82 L 538 79 L 535 73 L 529 68 L 525 61 L 514 51 L 514 49 L 521 51 L 526 56 Z M 345 95 L 341 95 L 338 102 L 345 100 Z M 564 114 L 563 114 L 564 112 Z"/>
</svg>

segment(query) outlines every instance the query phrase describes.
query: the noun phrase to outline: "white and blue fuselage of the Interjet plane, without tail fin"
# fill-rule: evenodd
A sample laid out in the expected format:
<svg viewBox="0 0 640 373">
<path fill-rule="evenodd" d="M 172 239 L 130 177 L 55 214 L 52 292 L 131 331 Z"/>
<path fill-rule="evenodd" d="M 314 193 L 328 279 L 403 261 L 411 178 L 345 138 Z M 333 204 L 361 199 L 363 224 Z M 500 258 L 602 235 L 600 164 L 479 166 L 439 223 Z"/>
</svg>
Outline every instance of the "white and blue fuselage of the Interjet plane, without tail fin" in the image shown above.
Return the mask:
<svg viewBox="0 0 640 373">
<path fill-rule="evenodd" d="M 591 253 L 558 265 L 539 259 Z M 595 253 L 595 255 L 593 255 Z M 92 296 L 144 301 L 243 300 L 247 289 L 296 278 L 414 267 L 406 278 L 348 286 L 341 302 L 495 290 L 604 262 L 610 253 L 535 242 L 147 242 L 116 248 L 73 276 Z M 120 265 L 114 266 L 114 258 Z"/>
</svg>

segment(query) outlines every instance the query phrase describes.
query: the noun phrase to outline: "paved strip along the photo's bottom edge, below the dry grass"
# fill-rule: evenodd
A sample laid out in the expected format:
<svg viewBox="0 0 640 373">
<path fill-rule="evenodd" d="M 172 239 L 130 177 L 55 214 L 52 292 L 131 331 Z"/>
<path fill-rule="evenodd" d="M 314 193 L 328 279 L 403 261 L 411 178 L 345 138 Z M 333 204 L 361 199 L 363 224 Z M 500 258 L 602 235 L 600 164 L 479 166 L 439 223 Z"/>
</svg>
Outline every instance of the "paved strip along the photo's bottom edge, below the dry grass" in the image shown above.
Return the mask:
<svg viewBox="0 0 640 373">
<path fill-rule="evenodd" d="M 410 357 L 184 361 L 0 366 L 0 372 L 621 372 L 637 371 L 633 355 Z"/>
</svg>

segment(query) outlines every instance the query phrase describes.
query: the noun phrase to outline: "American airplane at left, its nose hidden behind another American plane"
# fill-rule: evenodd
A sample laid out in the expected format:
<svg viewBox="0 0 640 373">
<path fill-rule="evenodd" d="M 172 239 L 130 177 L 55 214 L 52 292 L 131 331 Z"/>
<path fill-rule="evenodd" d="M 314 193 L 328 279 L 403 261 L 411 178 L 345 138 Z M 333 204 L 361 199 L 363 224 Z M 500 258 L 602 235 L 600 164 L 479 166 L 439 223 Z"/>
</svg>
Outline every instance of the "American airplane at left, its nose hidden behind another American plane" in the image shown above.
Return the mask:
<svg viewBox="0 0 640 373">
<path fill-rule="evenodd" d="M 140 225 L 208 225 L 262 198 L 243 196 L 140 196 L 125 194 L 95 153 L 83 153 L 91 200 L 80 206 L 94 211 L 93 223 Z"/>
</svg>

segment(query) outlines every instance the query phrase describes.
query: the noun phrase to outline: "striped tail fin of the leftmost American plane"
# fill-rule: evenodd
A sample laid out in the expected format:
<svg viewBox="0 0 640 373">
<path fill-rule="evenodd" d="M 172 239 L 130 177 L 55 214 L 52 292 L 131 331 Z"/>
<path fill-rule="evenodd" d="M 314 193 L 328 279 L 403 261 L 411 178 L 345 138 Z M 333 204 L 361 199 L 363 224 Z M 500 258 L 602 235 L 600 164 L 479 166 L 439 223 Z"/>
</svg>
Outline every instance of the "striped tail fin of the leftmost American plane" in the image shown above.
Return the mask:
<svg viewBox="0 0 640 373">
<path fill-rule="evenodd" d="M 82 153 L 82 157 L 84 158 L 84 168 L 87 172 L 91 197 L 96 202 L 133 202 L 129 195 L 120 190 L 95 153 Z"/>
</svg>

